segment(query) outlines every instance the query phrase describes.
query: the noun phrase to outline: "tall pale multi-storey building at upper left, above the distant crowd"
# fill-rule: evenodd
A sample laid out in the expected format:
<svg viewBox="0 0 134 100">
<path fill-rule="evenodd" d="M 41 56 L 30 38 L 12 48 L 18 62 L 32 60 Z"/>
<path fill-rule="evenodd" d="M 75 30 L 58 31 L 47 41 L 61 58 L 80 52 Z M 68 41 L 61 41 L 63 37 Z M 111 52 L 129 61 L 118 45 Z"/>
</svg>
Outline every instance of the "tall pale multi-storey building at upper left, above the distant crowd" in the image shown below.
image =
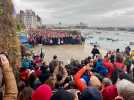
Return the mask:
<svg viewBox="0 0 134 100">
<path fill-rule="evenodd" d="M 32 10 L 25 10 L 20 11 L 20 13 L 17 15 L 17 20 L 24 24 L 25 29 L 31 29 L 31 28 L 38 28 L 42 26 L 42 20 L 41 18 L 35 14 Z"/>
</svg>

